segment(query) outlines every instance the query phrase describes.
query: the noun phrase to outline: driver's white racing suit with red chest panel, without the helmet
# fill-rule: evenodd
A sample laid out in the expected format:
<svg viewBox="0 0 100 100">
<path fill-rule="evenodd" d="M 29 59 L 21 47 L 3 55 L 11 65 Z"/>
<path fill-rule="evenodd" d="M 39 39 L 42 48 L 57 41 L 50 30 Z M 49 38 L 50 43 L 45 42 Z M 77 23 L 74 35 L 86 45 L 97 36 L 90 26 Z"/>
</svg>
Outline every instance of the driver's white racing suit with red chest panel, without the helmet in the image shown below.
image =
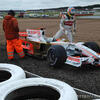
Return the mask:
<svg viewBox="0 0 100 100">
<path fill-rule="evenodd" d="M 73 28 L 75 30 L 75 19 L 74 18 L 68 19 L 67 16 L 62 17 L 60 21 L 60 30 L 56 33 L 54 39 L 56 40 L 60 38 L 63 34 L 65 34 L 67 35 L 69 42 L 73 42 L 73 37 L 72 37 Z"/>
</svg>

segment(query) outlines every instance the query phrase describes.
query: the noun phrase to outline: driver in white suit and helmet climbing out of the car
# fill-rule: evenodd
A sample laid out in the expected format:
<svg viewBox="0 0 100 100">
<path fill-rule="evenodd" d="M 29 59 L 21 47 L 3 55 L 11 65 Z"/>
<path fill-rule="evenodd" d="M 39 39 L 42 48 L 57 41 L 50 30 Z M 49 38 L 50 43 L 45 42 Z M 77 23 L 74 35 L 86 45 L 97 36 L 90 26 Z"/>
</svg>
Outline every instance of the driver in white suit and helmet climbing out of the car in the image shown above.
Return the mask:
<svg viewBox="0 0 100 100">
<path fill-rule="evenodd" d="M 67 35 L 69 42 L 73 42 L 72 30 L 73 34 L 76 32 L 75 25 L 75 9 L 73 7 L 68 8 L 67 13 L 62 13 L 62 18 L 60 21 L 60 30 L 53 37 L 53 41 L 60 38 L 63 34 Z"/>
</svg>

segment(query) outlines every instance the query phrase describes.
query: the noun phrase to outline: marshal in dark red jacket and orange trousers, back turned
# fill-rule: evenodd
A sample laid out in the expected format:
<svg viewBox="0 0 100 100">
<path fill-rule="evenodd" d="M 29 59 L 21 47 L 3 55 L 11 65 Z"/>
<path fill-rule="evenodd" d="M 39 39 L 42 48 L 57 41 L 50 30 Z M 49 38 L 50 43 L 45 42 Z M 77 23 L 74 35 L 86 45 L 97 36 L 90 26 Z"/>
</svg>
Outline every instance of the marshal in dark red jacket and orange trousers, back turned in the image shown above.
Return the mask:
<svg viewBox="0 0 100 100">
<path fill-rule="evenodd" d="M 10 13 L 9 13 L 10 12 Z M 8 59 L 14 58 L 14 49 L 19 54 L 20 58 L 23 58 L 24 52 L 19 39 L 19 28 L 17 19 L 14 17 L 14 11 L 10 10 L 8 15 L 3 20 L 3 30 L 7 40 L 7 54 Z"/>
</svg>

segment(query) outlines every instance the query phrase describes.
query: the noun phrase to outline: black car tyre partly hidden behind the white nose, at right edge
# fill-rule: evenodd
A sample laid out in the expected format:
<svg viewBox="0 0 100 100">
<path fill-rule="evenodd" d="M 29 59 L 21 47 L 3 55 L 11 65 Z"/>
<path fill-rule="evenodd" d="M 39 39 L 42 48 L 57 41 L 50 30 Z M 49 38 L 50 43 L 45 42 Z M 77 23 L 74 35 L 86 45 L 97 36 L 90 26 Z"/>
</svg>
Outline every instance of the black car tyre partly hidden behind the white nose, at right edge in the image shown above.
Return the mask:
<svg viewBox="0 0 100 100">
<path fill-rule="evenodd" d="M 96 42 L 85 42 L 84 45 L 93 51 L 100 53 L 100 47 Z"/>
</svg>

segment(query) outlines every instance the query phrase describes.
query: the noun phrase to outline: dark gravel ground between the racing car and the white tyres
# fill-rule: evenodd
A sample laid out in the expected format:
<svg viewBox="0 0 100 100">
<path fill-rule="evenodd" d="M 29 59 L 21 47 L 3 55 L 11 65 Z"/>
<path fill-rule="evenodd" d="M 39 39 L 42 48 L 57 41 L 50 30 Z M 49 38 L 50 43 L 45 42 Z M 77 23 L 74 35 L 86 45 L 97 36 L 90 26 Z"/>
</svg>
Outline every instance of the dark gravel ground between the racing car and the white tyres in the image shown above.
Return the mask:
<svg viewBox="0 0 100 100">
<path fill-rule="evenodd" d="M 0 46 L 0 63 L 16 64 L 34 74 L 47 78 L 55 78 L 64 81 L 75 88 L 79 88 L 95 94 L 100 94 L 100 68 L 90 65 L 83 65 L 76 68 L 63 65 L 60 68 L 51 68 L 45 60 L 40 60 L 31 56 L 19 59 L 15 54 L 13 61 L 8 61 L 6 46 Z"/>
</svg>

